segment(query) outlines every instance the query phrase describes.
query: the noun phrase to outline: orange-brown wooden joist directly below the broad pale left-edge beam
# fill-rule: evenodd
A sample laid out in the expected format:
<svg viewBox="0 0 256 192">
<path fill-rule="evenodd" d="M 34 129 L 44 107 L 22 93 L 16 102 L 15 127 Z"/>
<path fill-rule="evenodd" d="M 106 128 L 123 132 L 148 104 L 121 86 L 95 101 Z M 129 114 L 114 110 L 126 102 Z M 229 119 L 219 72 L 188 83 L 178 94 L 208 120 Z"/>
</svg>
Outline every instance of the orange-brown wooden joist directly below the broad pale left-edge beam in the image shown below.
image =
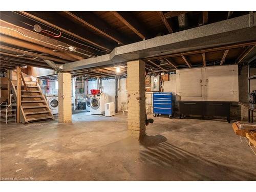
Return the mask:
<svg viewBox="0 0 256 192">
<path fill-rule="evenodd" d="M 49 48 L 42 47 L 42 46 L 39 46 L 36 44 L 32 44 L 31 42 L 13 38 L 13 37 L 10 37 L 7 35 L 1 35 L 0 41 L 4 42 L 5 44 L 14 45 L 14 46 L 25 48 L 28 50 L 35 50 L 35 51 L 38 51 L 41 53 L 47 53 L 47 54 L 50 54 L 50 55 L 53 55 L 55 57 L 59 57 L 62 59 L 66 59 L 66 60 L 70 60 L 70 61 L 77 61 L 77 59 L 73 58 L 72 56 L 67 55 L 66 53 L 59 52 L 59 51 L 53 51 Z"/>
</svg>

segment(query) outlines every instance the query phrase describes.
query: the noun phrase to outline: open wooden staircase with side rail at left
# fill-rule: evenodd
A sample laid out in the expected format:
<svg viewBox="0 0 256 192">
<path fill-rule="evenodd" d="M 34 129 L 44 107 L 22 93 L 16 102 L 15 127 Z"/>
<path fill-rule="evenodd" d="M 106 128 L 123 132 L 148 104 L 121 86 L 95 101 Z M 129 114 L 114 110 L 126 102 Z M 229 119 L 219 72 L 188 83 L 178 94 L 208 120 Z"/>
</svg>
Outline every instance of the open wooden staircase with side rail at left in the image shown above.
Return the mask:
<svg viewBox="0 0 256 192">
<path fill-rule="evenodd" d="M 20 120 L 24 123 L 54 119 L 48 102 L 36 81 L 23 77 L 20 95 Z M 11 81 L 11 90 L 17 102 L 17 81 Z"/>
</svg>

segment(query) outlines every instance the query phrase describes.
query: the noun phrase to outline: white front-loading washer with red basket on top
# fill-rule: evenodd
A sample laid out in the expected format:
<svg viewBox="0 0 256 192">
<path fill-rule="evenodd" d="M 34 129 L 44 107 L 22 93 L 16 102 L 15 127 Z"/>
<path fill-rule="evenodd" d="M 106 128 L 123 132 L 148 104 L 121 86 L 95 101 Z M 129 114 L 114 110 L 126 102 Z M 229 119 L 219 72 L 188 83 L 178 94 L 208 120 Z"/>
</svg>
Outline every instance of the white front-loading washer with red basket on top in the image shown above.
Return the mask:
<svg viewBox="0 0 256 192">
<path fill-rule="evenodd" d="M 105 94 L 91 95 L 90 98 L 90 110 L 91 114 L 104 114 L 105 103 L 109 102 L 109 96 Z"/>
</svg>

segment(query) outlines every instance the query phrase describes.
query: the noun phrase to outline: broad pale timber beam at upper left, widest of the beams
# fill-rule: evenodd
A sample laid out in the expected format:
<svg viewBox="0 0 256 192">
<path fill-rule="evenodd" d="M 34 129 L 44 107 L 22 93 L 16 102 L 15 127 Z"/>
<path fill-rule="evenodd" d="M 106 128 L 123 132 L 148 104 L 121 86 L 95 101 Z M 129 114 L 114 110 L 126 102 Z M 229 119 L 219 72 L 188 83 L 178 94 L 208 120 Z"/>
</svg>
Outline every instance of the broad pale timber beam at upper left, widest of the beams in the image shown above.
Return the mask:
<svg viewBox="0 0 256 192">
<path fill-rule="evenodd" d="M 54 50 L 66 51 L 66 54 L 68 56 L 73 57 L 77 60 L 83 59 L 83 57 L 78 56 L 75 52 L 66 50 L 69 47 L 69 45 L 66 44 L 65 42 L 52 39 L 45 35 L 41 35 L 39 33 L 30 31 L 28 29 L 10 24 L 1 19 L 0 19 L 0 33 L 11 36 L 11 37 L 15 37 L 21 40 L 25 40 L 28 42 L 32 42 L 37 45 L 45 46 Z"/>
</svg>

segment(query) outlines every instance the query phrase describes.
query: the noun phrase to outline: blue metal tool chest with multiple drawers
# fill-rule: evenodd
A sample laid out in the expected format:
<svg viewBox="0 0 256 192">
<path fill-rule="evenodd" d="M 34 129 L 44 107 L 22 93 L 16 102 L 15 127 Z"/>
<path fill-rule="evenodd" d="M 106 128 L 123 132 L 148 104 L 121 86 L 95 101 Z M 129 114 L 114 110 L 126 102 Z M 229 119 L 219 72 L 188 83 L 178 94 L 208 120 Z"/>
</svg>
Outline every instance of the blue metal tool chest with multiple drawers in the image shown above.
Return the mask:
<svg viewBox="0 0 256 192">
<path fill-rule="evenodd" d="M 173 94 L 170 92 L 153 93 L 154 117 L 160 114 L 173 116 Z"/>
</svg>

